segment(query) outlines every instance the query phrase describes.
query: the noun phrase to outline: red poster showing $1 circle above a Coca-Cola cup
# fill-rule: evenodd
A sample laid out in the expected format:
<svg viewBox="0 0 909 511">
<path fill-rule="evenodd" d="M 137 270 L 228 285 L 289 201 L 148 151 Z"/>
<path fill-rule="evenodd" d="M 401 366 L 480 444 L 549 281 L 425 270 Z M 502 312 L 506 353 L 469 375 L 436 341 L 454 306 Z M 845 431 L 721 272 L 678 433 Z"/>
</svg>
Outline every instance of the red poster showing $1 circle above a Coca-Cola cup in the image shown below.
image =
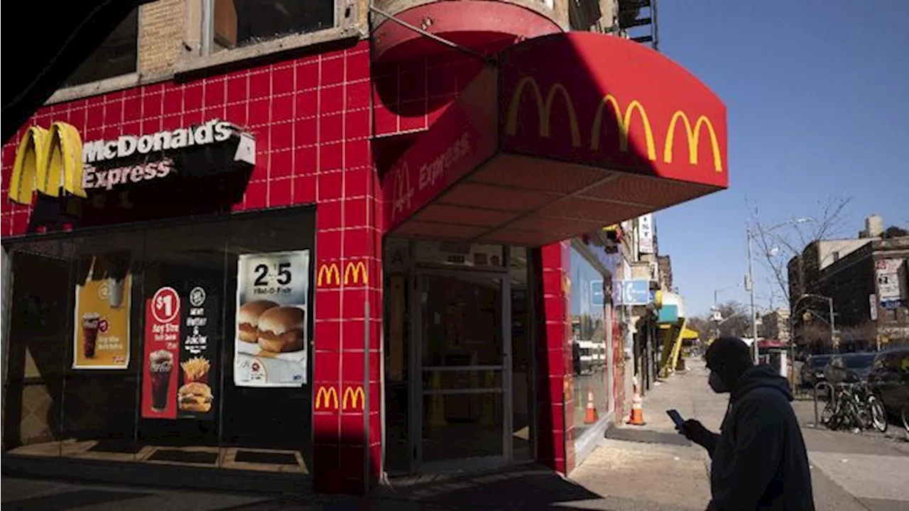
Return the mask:
<svg viewBox="0 0 909 511">
<path fill-rule="evenodd" d="M 161 287 L 145 301 L 145 358 L 142 378 L 143 418 L 175 419 L 180 360 L 180 295 Z"/>
</svg>

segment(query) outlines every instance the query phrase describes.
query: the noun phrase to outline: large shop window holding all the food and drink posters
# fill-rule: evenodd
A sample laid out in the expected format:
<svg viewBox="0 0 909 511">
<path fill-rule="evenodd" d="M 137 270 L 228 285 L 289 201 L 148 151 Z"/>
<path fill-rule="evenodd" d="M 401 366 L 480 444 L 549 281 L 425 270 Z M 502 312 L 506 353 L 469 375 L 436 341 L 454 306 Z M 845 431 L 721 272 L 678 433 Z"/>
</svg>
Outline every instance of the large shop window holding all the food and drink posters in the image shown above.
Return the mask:
<svg viewBox="0 0 909 511">
<path fill-rule="evenodd" d="M 7 454 L 307 473 L 313 233 L 303 210 L 8 245 Z M 239 340 L 269 293 L 293 303 Z"/>
</svg>

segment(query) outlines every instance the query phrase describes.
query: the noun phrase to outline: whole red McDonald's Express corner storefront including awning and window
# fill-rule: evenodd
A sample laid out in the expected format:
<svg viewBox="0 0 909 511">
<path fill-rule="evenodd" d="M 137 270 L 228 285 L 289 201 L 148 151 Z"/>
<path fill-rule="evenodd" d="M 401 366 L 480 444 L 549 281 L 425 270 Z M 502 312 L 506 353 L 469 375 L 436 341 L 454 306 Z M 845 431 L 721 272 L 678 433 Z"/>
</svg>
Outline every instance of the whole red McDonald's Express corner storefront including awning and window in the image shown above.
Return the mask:
<svg viewBox="0 0 909 511">
<path fill-rule="evenodd" d="M 608 283 L 592 233 L 726 186 L 724 105 L 604 35 L 369 50 L 48 105 L 3 147 L 5 470 L 357 493 L 574 468 L 573 336 L 621 334 L 608 305 L 573 328 L 572 261 Z"/>
</svg>

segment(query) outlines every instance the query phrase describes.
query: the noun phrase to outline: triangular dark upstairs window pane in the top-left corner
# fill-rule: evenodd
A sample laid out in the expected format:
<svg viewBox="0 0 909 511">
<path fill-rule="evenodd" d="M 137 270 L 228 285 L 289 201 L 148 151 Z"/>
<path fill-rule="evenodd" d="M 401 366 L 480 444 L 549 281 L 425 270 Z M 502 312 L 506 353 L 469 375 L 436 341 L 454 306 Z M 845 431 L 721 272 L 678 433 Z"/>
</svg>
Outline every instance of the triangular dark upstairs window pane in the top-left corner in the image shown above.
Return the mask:
<svg viewBox="0 0 909 511">
<path fill-rule="evenodd" d="M 139 8 L 136 7 L 62 86 L 83 85 L 135 73 L 139 55 L 138 40 Z"/>
</svg>

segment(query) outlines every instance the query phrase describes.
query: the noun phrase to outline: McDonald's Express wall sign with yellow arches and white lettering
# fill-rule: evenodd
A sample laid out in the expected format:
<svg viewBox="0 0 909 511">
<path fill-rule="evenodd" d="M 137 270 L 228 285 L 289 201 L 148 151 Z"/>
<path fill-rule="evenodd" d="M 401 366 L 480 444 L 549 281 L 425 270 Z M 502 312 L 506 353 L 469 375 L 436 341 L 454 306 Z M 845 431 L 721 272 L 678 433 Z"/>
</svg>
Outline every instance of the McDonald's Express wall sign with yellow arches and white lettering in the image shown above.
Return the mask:
<svg viewBox="0 0 909 511">
<path fill-rule="evenodd" d="M 38 192 L 52 197 L 86 196 L 89 190 L 112 190 L 167 177 L 176 172 L 175 155 L 193 147 L 216 145 L 236 136 L 234 162 L 255 165 L 255 139 L 221 120 L 148 135 L 82 143 L 73 125 L 55 122 L 50 129 L 32 126 L 15 156 L 9 199 L 30 205 Z M 164 156 L 164 155 L 170 156 Z M 116 165 L 118 162 L 123 165 Z"/>
</svg>

